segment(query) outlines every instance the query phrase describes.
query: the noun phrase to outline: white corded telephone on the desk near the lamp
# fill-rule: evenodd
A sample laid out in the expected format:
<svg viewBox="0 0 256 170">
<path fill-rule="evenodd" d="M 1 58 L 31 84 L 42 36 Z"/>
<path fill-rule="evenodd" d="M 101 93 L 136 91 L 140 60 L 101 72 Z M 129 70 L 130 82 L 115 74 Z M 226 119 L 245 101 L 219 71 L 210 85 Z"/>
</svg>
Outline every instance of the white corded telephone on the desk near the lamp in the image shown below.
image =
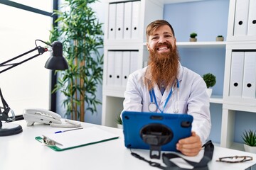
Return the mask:
<svg viewBox="0 0 256 170">
<path fill-rule="evenodd" d="M 26 108 L 23 110 L 23 117 L 28 126 L 34 125 L 34 123 L 45 123 L 57 128 L 78 128 L 81 126 L 79 122 L 72 120 L 65 120 L 66 123 L 64 124 L 60 115 L 43 108 Z"/>
</svg>

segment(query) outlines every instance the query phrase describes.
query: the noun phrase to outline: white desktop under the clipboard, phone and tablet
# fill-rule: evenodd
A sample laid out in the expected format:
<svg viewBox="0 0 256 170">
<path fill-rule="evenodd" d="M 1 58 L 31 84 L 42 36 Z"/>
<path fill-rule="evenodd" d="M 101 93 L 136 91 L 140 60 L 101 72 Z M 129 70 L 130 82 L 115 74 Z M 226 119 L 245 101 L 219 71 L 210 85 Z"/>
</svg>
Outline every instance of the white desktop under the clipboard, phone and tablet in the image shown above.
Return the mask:
<svg viewBox="0 0 256 170">
<path fill-rule="evenodd" d="M 22 126 L 23 132 L 18 135 L 0 137 L 1 170 L 157 169 L 149 166 L 146 162 L 132 157 L 130 150 L 124 147 L 124 137 L 120 129 L 82 123 L 82 127 L 84 128 L 96 126 L 102 130 L 119 135 L 119 139 L 65 150 L 63 152 L 55 152 L 43 146 L 35 140 L 35 137 L 43 133 L 63 130 L 63 128 L 52 128 L 49 125 L 43 125 L 41 123 L 35 123 L 31 127 L 27 127 L 25 120 L 16 121 L 15 123 Z M 149 150 L 133 149 L 133 152 L 137 152 L 142 157 L 149 159 Z M 201 155 L 203 155 L 203 152 L 198 157 L 192 157 L 192 159 L 199 160 Z M 252 156 L 253 161 L 239 164 L 215 162 L 218 157 L 235 155 Z M 161 159 L 152 161 L 160 163 Z M 256 164 L 256 154 L 215 147 L 213 160 L 209 162 L 208 166 L 211 170 L 220 170 L 223 168 L 225 170 L 240 170 L 247 169 L 254 164 Z"/>
</svg>

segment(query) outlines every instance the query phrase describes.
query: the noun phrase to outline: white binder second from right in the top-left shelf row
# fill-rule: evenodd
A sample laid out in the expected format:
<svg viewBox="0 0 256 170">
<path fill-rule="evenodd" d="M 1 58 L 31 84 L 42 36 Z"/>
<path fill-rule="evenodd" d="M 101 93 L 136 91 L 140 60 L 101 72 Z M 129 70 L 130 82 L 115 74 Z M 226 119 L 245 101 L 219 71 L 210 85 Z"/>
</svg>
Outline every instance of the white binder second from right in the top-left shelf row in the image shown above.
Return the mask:
<svg viewBox="0 0 256 170">
<path fill-rule="evenodd" d="M 132 1 L 124 3 L 124 39 L 130 39 L 132 34 Z"/>
</svg>

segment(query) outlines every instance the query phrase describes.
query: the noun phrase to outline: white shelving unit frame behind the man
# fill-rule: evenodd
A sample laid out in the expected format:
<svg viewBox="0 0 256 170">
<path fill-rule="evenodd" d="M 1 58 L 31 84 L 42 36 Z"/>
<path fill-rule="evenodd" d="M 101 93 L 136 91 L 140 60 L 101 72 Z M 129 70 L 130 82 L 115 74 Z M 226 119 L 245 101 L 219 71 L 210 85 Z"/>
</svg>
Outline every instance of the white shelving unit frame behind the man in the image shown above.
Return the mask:
<svg viewBox="0 0 256 170">
<path fill-rule="evenodd" d="M 191 3 L 195 1 L 206 0 L 141 0 L 139 13 L 139 36 L 132 40 L 109 40 L 108 22 L 105 23 L 105 64 L 102 89 L 102 125 L 117 127 L 115 119 L 122 111 L 122 103 L 124 101 L 125 86 L 108 86 L 107 85 L 107 55 L 110 50 L 138 50 L 137 68 L 144 67 L 147 61 L 148 52 L 146 50 L 146 40 L 144 30 L 146 26 L 156 19 L 164 18 L 164 5 L 176 3 Z M 228 1 L 228 0 L 227 0 Z M 231 52 L 234 49 L 255 49 L 256 35 L 250 37 L 236 37 L 233 35 L 234 17 L 235 17 L 235 2 L 238 0 L 230 0 L 228 9 L 228 35 L 224 42 L 215 41 L 198 41 L 198 42 L 177 42 L 179 49 L 217 49 L 225 51 L 225 71 L 223 83 L 223 96 L 211 96 L 210 103 L 217 103 L 222 106 L 221 134 L 220 146 L 242 150 L 242 145 L 234 142 L 234 126 L 235 126 L 235 111 L 256 112 L 256 98 L 230 98 L 230 63 Z M 109 0 L 106 4 L 107 15 L 105 21 L 108 21 L 109 4 L 127 2 L 123 0 Z M 152 12 L 154 11 L 154 12 Z M 174 29 L 175 30 L 175 29 Z M 249 104 L 248 104 L 249 103 Z"/>
</svg>

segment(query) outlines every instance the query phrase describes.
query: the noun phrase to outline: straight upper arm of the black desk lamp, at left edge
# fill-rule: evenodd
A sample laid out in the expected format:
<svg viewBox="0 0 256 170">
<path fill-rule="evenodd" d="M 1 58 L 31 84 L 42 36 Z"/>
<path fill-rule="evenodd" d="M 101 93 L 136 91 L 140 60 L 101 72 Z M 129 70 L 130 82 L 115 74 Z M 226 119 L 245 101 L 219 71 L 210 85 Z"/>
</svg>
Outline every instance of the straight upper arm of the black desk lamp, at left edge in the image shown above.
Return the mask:
<svg viewBox="0 0 256 170">
<path fill-rule="evenodd" d="M 38 50 L 38 54 L 37 54 L 37 55 L 33 55 L 32 57 L 29 57 L 28 59 L 23 60 L 23 61 L 21 61 L 21 62 L 8 64 L 9 62 L 14 61 L 14 60 L 18 59 L 19 57 L 22 57 L 23 55 L 27 55 L 27 54 L 29 54 L 29 53 L 35 51 L 35 50 Z M 28 60 L 31 60 L 31 59 L 33 59 L 33 58 L 35 58 L 35 57 L 38 57 L 39 55 L 43 55 L 43 52 L 46 52 L 46 51 L 48 51 L 47 48 L 44 48 L 44 47 L 41 47 L 41 46 L 37 46 L 37 47 L 35 47 L 33 50 L 29 50 L 28 52 L 24 52 L 23 54 L 18 55 L 17 57 L 14 57 L 14 58 L 12 58 L 12 59 L 10 59 L 10 60 L 7 60 L 7 61 L 5 61 L 5 62 L 2 62 L 2 63 L 0 64 L 0 67 L 6 67 L 6 66 L 10 66 L 10 67 L 1 70 L 1 71 L 0 71 L 0 74 L 3 73 L 3 72 L 6 72 L 7 70 L 9 70 L 9 69 L 11 69 L 11 68 L 13 68 L 13 67 L 18 66 L 19 64 L 22 64 L 23 62 L 27 62 Z"/>
</svg>

